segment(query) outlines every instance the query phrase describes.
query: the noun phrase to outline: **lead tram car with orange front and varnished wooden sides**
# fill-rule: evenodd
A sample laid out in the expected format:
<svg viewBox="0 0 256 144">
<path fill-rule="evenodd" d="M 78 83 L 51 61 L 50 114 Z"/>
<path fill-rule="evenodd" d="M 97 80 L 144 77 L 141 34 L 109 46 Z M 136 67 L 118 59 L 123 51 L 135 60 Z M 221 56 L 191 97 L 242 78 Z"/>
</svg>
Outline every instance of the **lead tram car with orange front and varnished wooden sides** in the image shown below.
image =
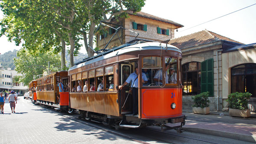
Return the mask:
<svg viewBox="0 0 256 144">
<path fill-rule="evenodd" d="M 114 127 L 158 125 L 179 130 L 185 124 L 181 60 L 180 49 L 159 42 L 139 41 L 103 51 L 69 69 L 69 107 L 85 120 Z M 136 67 L 138 115 L 131 115 L 131 82 L 121 90 L 118 86 L 125 83 Z M 148 81 L 142 83 L 142 75 Z M 170 127 L 169 123 L 176 126 Z"/>
</svg>

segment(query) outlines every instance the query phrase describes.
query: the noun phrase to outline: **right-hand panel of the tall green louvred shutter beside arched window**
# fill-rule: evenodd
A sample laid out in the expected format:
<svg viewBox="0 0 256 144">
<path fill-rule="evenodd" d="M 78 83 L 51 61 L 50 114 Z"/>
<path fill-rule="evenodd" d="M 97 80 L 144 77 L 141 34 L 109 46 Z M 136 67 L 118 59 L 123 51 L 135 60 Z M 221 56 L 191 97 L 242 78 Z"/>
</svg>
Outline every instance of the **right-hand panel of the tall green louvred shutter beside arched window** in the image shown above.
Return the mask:
<svg viewBox="0 0 256 144">
<path fill-rule="evenodd" d="M 213 58 L 207 60 L 207 91 L 213 96 Z"/>
</svg>

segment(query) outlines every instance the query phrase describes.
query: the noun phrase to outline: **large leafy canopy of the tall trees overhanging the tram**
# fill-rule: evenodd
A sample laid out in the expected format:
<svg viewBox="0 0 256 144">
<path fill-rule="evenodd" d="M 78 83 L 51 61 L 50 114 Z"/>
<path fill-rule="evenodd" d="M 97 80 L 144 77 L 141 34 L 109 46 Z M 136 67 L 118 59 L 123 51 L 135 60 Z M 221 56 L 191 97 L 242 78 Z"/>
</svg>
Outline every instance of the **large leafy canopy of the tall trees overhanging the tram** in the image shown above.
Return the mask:
<svg viewBox="0 0 256 144">
<path fill-rule="evenodd" d="M 145 0 L 2 0 L 4 18 L 0 35 L 30 52 L 62 51 L 69 45 L 70 65 L 83 39 L 89 57 L 93 56 L 93 34 L 100 21 L 126 16 L 126 10 L 138 12 Z"/>
</svg>

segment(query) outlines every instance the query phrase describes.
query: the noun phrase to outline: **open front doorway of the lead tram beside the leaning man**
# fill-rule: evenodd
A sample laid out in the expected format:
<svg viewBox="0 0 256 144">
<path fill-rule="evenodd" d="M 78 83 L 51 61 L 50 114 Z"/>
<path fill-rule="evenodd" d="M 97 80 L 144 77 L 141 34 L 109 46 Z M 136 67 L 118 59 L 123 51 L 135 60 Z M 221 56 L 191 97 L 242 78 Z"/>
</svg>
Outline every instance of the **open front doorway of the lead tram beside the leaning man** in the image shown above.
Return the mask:
<svg viewBox="0 0 256 144">
<path fill-rule="evenodd" d="M 125 80 L 131 74 L 131 64 L 121 64 L 121 84 L 125 83 Z M 124 86 L 121 90 L 121 114 L 132 112 L 132 96 L 129 94 L 131 82 Z"/>
</svg>

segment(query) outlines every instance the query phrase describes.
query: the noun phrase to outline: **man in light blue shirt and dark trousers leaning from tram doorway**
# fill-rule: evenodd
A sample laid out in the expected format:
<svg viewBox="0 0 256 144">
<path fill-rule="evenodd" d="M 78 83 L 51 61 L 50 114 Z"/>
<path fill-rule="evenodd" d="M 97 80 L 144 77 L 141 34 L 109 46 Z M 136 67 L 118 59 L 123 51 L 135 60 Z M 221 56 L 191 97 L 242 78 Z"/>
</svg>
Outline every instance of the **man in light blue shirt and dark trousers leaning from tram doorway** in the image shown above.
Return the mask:
<svg viewBox="0 0 256 144">
<path fill-rule="evenodd" d="M 142 83 L 148 82 L 148 79 L 144 73 L 142 74 Z M 139 70 L 138 67 L 135 67 L 135 72 L 131 73 L 127 80 L 125 80 L 125 83 L 123 85 L 118 86 L 120 90 L 122 90 L 123 86 L 126 86 L 128 83 L 131 82 L 131 88 L 132 88 L 132 100 L 133 100 L 133 106 L 132 106 L 132 115 L 138 114 L 138 75 Z"/>
</svg>

